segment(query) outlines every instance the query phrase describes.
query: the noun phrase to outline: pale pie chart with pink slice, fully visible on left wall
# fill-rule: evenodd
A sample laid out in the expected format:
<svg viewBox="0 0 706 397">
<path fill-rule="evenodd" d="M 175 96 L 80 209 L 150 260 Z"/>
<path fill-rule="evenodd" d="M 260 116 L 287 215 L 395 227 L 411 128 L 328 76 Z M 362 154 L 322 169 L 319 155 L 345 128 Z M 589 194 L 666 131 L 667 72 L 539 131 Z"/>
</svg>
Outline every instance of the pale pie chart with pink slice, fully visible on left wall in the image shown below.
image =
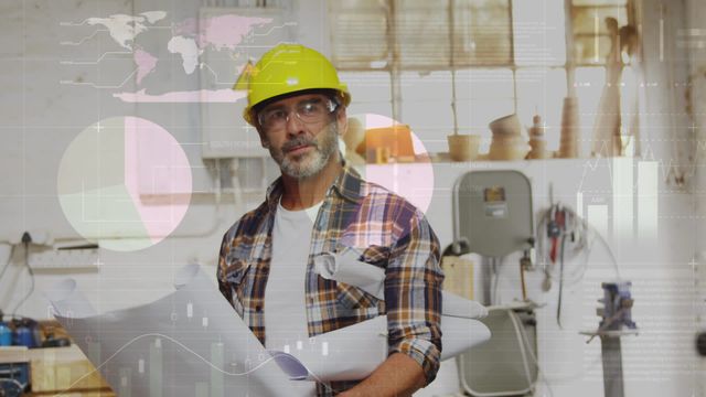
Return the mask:
<svg viewBox="0 0 706 397">
<path fill-rule="evenodd" d="M 191 167 L 179 142 L 138 117 L 108 118 L 82 131 L 66 149 L 56 180 L 74 229 L 118 251 L 168 237 L 192 192 Z"/>
</svg>

